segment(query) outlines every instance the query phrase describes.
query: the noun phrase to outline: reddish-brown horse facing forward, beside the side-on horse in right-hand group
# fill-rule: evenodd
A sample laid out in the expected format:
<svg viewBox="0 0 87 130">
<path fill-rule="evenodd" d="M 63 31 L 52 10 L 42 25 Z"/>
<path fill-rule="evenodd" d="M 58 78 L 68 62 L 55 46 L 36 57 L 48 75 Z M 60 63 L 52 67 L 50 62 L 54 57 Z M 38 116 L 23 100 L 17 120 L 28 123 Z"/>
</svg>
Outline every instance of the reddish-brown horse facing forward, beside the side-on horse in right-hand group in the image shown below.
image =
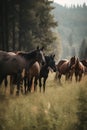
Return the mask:
<svg viewBox="0 0 87 130">
<path fill-rule="evenodd" d="M 82 62 L 79 61 L 77 58 L 76 63 L 74 65 L 75 69 L 75 79 L 77 81 L 81 81 L 82 79 L 82 74 L 85 72 L 86 67 L 82 64 Z"/>
</svg>

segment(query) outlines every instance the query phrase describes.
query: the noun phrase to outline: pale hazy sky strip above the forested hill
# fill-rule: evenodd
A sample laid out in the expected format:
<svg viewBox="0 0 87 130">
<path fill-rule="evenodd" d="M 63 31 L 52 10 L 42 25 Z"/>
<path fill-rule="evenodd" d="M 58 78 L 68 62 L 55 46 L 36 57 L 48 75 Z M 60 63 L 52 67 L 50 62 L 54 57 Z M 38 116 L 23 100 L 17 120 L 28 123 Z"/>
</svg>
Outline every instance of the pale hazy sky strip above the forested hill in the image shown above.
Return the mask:
<svg viewBox="0 0 87 130">
<path fill-rule="evenodd" d="M 83 3 L 85 2 L 86 5 L 87 5 L 87 0 L 54 0 L 54 2 L 60 4 L 60 5 L 67 5 L 67 6 L 70 6 L 71 4 L 73 5 L 83 5 Z"/>
</svg>

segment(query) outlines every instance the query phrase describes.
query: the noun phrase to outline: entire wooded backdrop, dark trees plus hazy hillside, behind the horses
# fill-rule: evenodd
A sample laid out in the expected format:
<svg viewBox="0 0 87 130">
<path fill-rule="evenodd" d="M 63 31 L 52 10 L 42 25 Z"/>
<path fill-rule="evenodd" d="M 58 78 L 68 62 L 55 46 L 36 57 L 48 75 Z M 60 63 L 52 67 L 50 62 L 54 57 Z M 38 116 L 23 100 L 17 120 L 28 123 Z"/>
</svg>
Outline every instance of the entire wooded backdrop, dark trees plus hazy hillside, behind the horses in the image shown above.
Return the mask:
<svg viewBox="0 0 87 130">
<path fill-rule="evenodd" d="M 40 45 L 54 52 L 57 60 L 73 55 L 86 58 L 86 25 L 85 3 L 68 8 L 49 0 L 0 1 L 0 49 L 4 51 L 29 51 Z"/>
</svg>

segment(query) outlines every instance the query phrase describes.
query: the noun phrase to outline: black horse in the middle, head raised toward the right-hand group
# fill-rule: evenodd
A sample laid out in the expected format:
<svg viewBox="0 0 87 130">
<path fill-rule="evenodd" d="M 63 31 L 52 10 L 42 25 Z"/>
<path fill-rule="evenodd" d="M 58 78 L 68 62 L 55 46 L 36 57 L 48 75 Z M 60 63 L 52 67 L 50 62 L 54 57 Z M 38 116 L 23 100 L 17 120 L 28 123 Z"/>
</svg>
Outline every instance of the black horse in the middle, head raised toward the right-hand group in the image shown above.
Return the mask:
<svg viewBox="0 0 87 130">
<path fill-rule="evenodd" d="M 35 77 L 34 90 L 36 90 L 37 80 L 39 80 L 40 92 L 41 92 L 42 86 L 43 86 L 43 92 L 45 92 L 46 81 L 48 78 L 49 71 L 51 70 L 53 72 L 56 72 L 56 65 L 55 65 L 54 57 L 55 55 L 45 56 L 46 63 L 44 66 L 42 66 L 39 77 Z M 42 79 L 43 79 L 43 82 L 42 82 Z"/>
</svg>

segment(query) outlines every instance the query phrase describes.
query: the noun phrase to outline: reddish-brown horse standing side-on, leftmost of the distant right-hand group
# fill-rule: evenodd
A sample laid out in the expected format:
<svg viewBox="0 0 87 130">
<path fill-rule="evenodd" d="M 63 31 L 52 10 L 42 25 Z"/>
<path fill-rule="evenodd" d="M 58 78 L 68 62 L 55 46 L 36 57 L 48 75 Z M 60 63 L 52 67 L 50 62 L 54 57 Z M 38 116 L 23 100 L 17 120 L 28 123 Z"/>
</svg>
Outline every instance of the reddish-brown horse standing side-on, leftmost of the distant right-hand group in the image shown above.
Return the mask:
<svg viewBox="0 0 87 130">
<path fill-rule="evenodd" d="M 73 68 L 72 66 L 75 64 L 76 58 L 75 56 L 71 57 L 70 60 L 64 59 L 60 60 L 58 64 L 56 64 L 57 72 L 56 75 L 59 79 L 59 82 L 61 82 L 61 76 L 65 75 L 65 79 L 71 79 L 73 76 Z"/>
</svg>

